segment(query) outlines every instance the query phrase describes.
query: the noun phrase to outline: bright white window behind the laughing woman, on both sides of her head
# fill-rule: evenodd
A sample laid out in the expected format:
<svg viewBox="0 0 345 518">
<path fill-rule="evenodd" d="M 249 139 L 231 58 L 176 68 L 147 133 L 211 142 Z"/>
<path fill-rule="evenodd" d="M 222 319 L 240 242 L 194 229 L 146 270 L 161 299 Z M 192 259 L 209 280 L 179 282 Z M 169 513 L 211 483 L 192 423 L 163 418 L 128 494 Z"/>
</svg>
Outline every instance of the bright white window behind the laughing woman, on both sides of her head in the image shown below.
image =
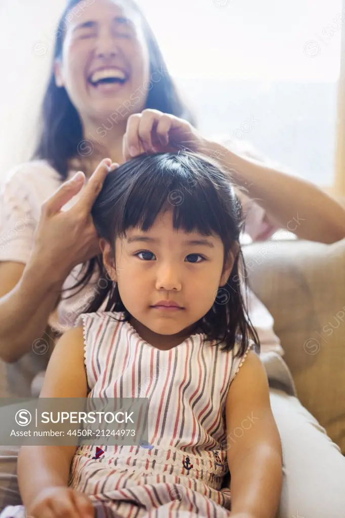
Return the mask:
<svg viewBox="0 0 345 518">
<path fill-rule="evenodd" d="M 139 3 L 200 130 L 248 139 L 291 174 L 334 184 L 341 0 Z M 0 4 L 0 174 L 30 156 L 64 5 Z"/>
</svg>

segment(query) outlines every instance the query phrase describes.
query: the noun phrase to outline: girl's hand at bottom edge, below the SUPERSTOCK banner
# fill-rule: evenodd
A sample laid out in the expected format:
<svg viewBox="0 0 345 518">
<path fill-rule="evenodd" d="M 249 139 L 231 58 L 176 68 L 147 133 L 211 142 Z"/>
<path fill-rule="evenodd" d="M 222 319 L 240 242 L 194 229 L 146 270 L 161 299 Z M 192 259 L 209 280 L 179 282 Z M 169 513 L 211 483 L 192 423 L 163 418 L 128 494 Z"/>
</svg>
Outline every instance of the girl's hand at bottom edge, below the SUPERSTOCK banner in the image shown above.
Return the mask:
<svg viewBox="0 0 345 518">
<path fill-rule="evenodd" d="M 94 518 L 91 500 L 70 487 L 48 487 L 38 494 L 27 518 Z"/>
</svg>

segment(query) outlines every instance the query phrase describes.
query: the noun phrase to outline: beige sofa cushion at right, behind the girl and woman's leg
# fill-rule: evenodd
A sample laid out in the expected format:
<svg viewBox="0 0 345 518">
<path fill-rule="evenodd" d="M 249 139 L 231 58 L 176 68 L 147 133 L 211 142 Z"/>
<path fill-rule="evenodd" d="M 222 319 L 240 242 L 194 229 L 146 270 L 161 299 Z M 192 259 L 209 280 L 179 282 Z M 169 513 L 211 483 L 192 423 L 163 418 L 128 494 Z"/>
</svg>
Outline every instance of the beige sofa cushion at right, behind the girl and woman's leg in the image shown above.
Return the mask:
<svg viewBox="0 0 345 518">
<path fill-rule="evenodd" d="M 301 403 L 345 452 L 345 239 L 273 240 L 243 251 Z"/>
</svg>

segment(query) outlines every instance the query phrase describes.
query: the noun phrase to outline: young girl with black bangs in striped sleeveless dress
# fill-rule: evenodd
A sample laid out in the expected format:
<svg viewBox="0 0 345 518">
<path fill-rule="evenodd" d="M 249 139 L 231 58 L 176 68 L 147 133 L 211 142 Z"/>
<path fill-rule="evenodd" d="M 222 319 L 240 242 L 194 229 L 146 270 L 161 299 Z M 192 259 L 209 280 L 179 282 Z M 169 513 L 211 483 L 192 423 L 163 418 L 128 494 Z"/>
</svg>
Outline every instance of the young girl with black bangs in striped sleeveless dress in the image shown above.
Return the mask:
<svg viewBox="0 0 345 518">
<path fill-rule="evenodd" d="M 202 155 L 140 155 L 92 215 L 111 282 L 57 343 L 40 397 L 148 398 L 150 448 L 22 447 L 26 515 L 274 518 L 281 444 L 228 177 Z"/>
</svg>

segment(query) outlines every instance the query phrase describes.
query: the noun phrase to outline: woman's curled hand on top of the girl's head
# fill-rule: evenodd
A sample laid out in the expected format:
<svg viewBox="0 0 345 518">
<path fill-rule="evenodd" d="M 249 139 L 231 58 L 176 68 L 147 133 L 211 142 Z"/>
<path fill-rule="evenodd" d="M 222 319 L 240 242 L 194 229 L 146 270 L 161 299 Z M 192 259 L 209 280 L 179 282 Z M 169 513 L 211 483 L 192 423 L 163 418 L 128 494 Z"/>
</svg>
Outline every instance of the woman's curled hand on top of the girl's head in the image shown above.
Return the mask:
<svg viewBox="0 0 345 518">
<path fill-rule="evenodd" d="M 207 153 L 208 141 L 187 121 L 159 110 L 146 109 L 128 117 L 123 157 L 178 150 Z"/>
</svg>

